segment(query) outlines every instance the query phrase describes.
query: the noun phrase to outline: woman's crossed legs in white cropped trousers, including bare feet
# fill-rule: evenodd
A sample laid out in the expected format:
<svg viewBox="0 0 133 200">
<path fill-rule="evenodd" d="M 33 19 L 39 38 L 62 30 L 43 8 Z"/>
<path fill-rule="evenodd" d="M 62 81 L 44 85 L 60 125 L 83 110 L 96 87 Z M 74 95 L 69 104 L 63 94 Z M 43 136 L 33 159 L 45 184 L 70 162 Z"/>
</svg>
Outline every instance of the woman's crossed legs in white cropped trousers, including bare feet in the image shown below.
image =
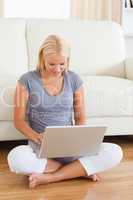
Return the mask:
<svg viewBox="0 0 133 200">
<path fill-rule="evenodd" d="M 55 160 L 39 159 L 28 145 L 15 147 L 8 154 L 10 170 L 27 174 L 30 188 L 76 177 L 98 181 L 97 173 L 116 166 L 121 159 L 121 148 L 112 143 L 103 143 L 97 155 L 84 156 L 66 165 Z"/>
</svg>

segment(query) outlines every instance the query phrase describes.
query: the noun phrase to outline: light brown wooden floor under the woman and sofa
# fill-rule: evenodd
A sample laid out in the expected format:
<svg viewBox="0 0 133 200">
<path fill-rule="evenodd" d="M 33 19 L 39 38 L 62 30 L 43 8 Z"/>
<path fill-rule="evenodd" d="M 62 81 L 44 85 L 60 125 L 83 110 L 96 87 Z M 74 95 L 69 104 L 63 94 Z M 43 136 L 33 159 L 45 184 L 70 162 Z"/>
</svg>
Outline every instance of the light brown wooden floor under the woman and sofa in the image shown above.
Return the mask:
<svg viewBox="0 0 133 200">
<path fill-rule="evenodd" d="M 133 136 L 105 140 L 119 144 L 124 159 L 116 168 L 101 173 L 100 182 L 77 178 L 35 189 L 28 188 L 25 176 L 13 174 L 8 169 L 6 156 L 16 144 L 0 143 L 0 200 L 133 200 Z"/>
</svg>

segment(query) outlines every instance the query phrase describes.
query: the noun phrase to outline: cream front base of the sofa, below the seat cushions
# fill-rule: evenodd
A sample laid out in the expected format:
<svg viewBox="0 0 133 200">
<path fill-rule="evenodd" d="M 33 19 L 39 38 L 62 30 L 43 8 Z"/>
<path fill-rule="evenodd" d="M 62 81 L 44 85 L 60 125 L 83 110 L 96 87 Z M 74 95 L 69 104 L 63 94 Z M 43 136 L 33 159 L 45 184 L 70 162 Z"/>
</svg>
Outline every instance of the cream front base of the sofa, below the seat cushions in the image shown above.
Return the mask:
<svg viewBox="0 0 133 200">
<path fill-rule="evenodd" d="M 87 119 L 88 125 L 107 126 L 106 135 L 133 135 L 133 117 L 92 117 Z M 12 121 L 0 121 L 0 141 L 26 139 L 13 127 Z"/>
</svg>

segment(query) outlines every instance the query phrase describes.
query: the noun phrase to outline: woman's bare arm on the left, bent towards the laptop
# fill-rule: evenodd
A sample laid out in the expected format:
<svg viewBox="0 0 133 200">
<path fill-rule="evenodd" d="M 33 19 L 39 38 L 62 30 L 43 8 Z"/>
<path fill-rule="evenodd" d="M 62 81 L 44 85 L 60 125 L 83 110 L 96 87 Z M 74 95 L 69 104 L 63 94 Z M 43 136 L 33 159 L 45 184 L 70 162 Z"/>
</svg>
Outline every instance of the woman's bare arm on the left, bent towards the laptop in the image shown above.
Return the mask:
<svg viewBox="0 0 133 200">
<path fill-rule="evenodd" d="M 14 126 L 28 139 L 41 144 L 42 135 L 35 132 L 25 121 L 28 99 L 28 91 L 18 82 L 14 95 Z"/>
</svg>

